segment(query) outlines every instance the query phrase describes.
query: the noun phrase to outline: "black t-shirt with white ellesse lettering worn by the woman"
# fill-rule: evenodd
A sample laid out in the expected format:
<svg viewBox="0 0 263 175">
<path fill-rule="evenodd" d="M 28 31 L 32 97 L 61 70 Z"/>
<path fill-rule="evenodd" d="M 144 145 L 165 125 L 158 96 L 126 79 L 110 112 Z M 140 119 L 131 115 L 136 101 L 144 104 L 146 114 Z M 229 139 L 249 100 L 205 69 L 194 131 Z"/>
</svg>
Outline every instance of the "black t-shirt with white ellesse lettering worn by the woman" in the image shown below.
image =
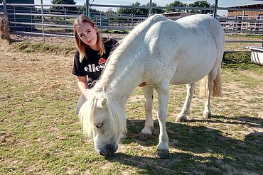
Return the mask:
<svg viewBox="0 0 263 175">
<path fill-rule="evenodd" d="M 103 39 L 105 40 L 105 39 Z M 74 57 L 73 74 L 79 77 L 87 76 L 89 79 L 99 79 L 102 70 L 105 67 L 106 60 L 109 57 L 110 52 L 117 46 L 117 40 L 109 39 L 104 41 L 104 47 L 106 52 L 100 56 L 99 51 L 92 50 L 87 47 L 85 50 L 86 56 L 80 62 L 80 52 L 76 50 Z"/>
</svg>

